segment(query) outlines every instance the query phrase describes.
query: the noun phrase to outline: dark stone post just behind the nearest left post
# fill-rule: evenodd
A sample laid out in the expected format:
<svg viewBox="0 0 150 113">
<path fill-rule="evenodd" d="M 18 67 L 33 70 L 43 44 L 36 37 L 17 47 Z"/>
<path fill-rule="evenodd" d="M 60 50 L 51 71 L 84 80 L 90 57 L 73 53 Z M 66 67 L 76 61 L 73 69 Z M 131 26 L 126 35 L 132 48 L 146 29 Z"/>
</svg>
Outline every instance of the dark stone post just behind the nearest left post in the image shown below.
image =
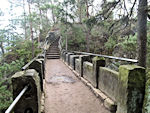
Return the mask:
<svg viewBox="0 0 150 113">
<path fill-rule="evenodd" d="M 34 60 L 28 69 L 35 69 L 39 73 L 41 90 L 43 91 L 43 64 L 39 59 Z"/>
</svg>

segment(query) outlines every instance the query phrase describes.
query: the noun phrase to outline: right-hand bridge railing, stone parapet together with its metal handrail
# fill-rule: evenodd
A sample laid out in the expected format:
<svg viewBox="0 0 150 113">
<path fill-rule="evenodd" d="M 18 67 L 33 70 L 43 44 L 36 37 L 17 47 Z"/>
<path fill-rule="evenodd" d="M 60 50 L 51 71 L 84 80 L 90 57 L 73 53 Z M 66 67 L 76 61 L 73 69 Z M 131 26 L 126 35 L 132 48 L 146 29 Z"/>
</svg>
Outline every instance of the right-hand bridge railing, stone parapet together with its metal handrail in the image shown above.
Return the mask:
<svg viewBox="0 0 150 113">
<path fill-rule="evenodd" d="M 65 50 L 61 51 L 61 59 L 81 80 L 91 84 L 94 92 L 99 92 L 98 97 L 111 112 L 142 112 L 146 74 L 145 68 L 135 65 L 137 60 Z M 116 71 L 106 67 L 106 59 L 128 63 L 121 64 Z"/>
</svg>

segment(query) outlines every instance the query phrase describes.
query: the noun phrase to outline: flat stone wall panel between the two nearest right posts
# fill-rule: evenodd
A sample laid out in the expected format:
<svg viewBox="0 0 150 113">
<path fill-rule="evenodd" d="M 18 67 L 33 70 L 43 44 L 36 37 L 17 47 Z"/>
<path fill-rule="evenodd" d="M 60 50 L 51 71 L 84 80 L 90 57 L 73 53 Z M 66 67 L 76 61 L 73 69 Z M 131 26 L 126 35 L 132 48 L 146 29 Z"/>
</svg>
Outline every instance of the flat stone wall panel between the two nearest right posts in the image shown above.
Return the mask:
<svg viewBox="0 0 150 113">
<path fill-rule="evenodd" d="M 118 96 L 119 73 L 106 67 L 99 67 L 98 88 L 116 101 Z"/>
</svg>

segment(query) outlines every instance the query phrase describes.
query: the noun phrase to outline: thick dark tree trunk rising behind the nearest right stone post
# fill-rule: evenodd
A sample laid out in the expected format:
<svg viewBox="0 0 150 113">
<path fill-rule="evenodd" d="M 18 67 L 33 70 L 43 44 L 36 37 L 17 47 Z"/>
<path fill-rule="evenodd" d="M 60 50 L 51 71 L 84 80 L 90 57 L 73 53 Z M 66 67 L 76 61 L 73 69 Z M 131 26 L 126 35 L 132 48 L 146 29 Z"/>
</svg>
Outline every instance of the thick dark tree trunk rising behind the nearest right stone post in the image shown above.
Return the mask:
<svg viewBox="0 0 150 113">
<path fill-rule="evenodd" d="M 147 0 L 139 0 L 138 5 L 138 65 L 146 67 L 147 53 Z"/>
</svg>

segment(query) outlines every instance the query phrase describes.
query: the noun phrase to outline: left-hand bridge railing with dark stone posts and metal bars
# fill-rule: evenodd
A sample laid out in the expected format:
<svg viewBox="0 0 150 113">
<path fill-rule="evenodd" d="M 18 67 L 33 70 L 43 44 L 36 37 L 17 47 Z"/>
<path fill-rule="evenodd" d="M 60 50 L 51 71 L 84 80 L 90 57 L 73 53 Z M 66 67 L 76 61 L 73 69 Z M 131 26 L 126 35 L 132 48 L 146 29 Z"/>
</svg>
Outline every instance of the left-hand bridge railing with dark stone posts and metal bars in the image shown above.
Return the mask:
<svg viewBox="0 0 150 113">
<path fill-rule="evenodd" d="M 15 73 L 12 80 L 13 103 L 5 113 L 40 113 L 41 92 L 44 79 L 44 54 L 37 55 L 24 67 Z"/>
</svg>

